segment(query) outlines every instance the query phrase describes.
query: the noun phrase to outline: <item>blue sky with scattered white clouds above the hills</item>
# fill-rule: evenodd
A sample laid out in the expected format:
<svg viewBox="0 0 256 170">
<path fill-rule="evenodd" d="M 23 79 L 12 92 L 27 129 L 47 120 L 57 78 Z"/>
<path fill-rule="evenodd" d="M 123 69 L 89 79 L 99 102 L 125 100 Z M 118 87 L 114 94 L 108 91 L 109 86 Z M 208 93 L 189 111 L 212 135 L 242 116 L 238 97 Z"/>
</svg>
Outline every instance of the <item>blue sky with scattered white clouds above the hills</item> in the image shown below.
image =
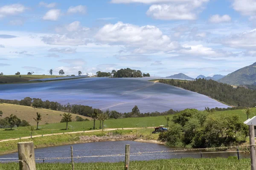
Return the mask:
<svg viewBox="0 0 256 170">
<path fill-rule="evenodd" d="M 0 72 L 227 75 L 256 62 L 256 0 L 0 0 Z"/>
</svg>

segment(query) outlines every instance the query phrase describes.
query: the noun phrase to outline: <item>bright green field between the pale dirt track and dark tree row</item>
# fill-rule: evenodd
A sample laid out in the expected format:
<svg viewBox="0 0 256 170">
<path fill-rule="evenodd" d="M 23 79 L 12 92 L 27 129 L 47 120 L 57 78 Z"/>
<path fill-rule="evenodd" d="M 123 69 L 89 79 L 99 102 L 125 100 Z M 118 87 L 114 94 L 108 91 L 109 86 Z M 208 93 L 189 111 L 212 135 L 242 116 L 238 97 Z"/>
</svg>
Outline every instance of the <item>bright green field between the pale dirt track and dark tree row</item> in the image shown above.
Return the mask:
<svg viewBox="0 0 256 170">
<path fill-rule="evenodd" d="M 241 122 L 247 120 L 246 114 L 243 110 L 232 110 L 232 111 L 217 111 L 209 113 L 216 116 L 221 115 L 237 115 L 239 116 Z M 172 119 L 173 115 L 168 115 Z M 253 108 L 249 118 L 256 116 L 256 108 Z M 44 120 L 44 119 L 43 119 Z M 138 117 L 138 118 L 125 118 L 125 119 L 108 119 L 104 121 L 104 128 L 127 128 L 127 127 L 137 127 L 137 128 L 149 128 L 157 127 L 159 125 L 166 125 L 165 116 L 156 116 L 156 117 Z M 39 128 L 41 130 L 36 130 L 34 135 L 41 134 L 50 134 L 50 133 L 63 133 L 63 132 L 73 132 L 74 131 L 83 131 L 89 130 L 93 127 L 93 121 L 86 122 L 69 122 L 68 130 L 63 130 L 66 128 L 66 123 L 53 123 L 49 125 L 44 125 L 39 123 Z M 96 128 L 99 128 L 99 120 L 96 120 Z M 27 127 L 18 127 L 14 128 L 15 130 L 4 130 L 0 129 L 0 140 L 3 139 L 14 139 L 29 136 L 29 129 Z M 62 130 L 61 130 L 62 129 Z M 150 134 L 152 129 L 148 131 L 147 134 Z"/>
</svg>

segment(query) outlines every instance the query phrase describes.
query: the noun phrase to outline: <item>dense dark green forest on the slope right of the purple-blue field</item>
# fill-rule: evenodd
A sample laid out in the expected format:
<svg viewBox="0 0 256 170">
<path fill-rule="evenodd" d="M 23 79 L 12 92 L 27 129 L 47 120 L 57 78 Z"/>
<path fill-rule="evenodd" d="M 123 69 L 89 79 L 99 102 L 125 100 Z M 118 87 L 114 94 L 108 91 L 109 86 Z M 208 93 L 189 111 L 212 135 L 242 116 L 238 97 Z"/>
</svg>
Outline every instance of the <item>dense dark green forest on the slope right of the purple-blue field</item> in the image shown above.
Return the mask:
<svg viewBox="0 0 256 170">
<path fill-rule="evenodd" d="M 216 82 L 212 79 L 196 79 L 195 81 L 160 79 L 159 82 L 204 94 L 228 105 L 251 108 L 256 106 L 256 91 L 243 87 L 233 88 L 231 85 Z"/>
</svg>

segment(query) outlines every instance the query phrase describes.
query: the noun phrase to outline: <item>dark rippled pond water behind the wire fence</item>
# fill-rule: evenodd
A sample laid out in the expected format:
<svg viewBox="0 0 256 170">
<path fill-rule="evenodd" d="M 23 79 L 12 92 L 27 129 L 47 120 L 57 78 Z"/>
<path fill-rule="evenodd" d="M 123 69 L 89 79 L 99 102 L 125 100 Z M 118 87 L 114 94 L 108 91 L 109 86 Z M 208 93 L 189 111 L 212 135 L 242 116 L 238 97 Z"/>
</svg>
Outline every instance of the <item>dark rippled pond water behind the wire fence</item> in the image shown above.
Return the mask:
<svg viewBox="0 0 256 170">
<path fill-rule="evenodd" d="M 92 143 L 80 143 L 72 144 L 73 156 L 84 158 L 74 158 L 75 162 L 119 162 L 124 161 L 125 156 L 125 144 L 131 145 L 131 161 L 142 161 L 142 160 L 154 160 L 154 159 L 172 159 L 172 158 L 201 158 L 201 151 L 203 158 L 211 157 L 229 157 L 237 156 L 236 152 L 224 152 L 224 153 L 208 153 L 216 151 L 207 150 L 187 150 L 187 151 L 175 151 L 174 147 L 168 147 L 163 144 L 155 143 L 141 143 L 134 141 L 108 141 L 108 142 L 92 142 Z M 70 146 L 62 145 L 55 147 L 44 147 L 35 149 L 35 158 L 40 159 L 37 162 L 70 162 L 68 159 L 52 159 L 52 158 L 64 158 L 70 157 Z M 163 151 L 163 152 L 161 152 Z M 140 154 L 137 154 L 140 153 Z M 119 155 L 118 155 L 119 154 Z M 250 158 L 249 153 L 240 152 L 240 158 Z M 108 156 L 116 155 L 116 156 Z M 92 156 L 92 157 L 90 157 Z M 13 159 L 3 159 L 13 158 Z M 1 161 L 14 161 L 18 159 L 17 153 L 10 153 L 6 155 L 0 155 Z M 48 158 L 48 159 L 47 159 Z"/>
</svg>

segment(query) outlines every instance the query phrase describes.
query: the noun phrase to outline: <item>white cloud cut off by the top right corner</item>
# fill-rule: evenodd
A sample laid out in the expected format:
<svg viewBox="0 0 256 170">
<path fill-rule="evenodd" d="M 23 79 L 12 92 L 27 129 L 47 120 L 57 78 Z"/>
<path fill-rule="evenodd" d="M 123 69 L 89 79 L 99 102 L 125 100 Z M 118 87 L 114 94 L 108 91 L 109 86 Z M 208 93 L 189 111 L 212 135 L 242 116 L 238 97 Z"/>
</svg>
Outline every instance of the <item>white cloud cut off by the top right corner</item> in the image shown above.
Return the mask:
<svg viewBox="0 0 256 170">
<path fill-rule="evenodd" d="M 242 15 L 256 15 L 256 0 L 233 0 L 232 6 Z"/>
</svg>

